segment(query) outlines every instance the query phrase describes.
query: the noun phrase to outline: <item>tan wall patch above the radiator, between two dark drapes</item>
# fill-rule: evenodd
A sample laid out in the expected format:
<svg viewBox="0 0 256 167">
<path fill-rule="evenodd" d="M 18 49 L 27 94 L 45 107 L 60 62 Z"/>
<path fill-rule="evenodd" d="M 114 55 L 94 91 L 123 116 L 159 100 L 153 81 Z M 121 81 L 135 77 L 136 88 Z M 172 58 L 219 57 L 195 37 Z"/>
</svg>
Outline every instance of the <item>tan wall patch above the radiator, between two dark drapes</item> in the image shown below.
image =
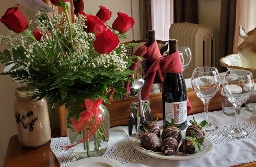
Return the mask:
<svg viewBox="0 0 256 167">
<path fill-rule="evenodd" d="M 199 24 L 219 30 L 221 0 L 198 0 Z"/>
</svg>

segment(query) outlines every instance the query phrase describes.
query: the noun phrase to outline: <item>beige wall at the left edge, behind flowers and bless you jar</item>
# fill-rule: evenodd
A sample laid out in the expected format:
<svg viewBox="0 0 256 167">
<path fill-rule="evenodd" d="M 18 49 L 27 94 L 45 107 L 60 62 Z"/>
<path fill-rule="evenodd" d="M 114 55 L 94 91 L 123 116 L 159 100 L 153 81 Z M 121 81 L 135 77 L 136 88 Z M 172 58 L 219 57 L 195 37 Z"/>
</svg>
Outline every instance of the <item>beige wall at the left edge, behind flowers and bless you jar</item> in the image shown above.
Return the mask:
<svg viewBox="0 0 256 167">
<path fill-rule="evenodd" d="M 4 15 L 9 7 L 16 6 L 15 1 L 2 1 L 0 8 L 0 16 Z M 20 6 L 21 11 L 28 17 L 29 11 Z M 0 23 L 1 35 L 8 33 L 8 29 Z M 0 45 L 2 51 L 4 46 Z M 3 71 L 3 65 L 0 65 L 0 72 Z M 8 76 L 0 76 L 0 166 L 3 165 L 9 138 L 17 134 L 16 123 L 13 111 L 13 102 L 15 99 L 14 91 L 17 85 Z"/>
</svg>

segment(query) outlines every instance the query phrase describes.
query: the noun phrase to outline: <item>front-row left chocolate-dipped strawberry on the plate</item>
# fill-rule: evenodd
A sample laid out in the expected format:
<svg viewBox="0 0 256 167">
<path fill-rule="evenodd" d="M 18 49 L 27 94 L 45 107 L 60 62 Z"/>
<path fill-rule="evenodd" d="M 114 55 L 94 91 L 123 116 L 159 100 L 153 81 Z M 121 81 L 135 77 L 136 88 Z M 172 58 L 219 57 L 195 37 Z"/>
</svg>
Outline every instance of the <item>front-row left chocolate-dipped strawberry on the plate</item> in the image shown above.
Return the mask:
<svg viewBox="0 0 256 167">
<path fill-rule="evenodd" d="M 161 143 L 156 134 L 145 133 L 141 138 L 141 145 L 147 150 L 161 151 Z"/>
</svg>

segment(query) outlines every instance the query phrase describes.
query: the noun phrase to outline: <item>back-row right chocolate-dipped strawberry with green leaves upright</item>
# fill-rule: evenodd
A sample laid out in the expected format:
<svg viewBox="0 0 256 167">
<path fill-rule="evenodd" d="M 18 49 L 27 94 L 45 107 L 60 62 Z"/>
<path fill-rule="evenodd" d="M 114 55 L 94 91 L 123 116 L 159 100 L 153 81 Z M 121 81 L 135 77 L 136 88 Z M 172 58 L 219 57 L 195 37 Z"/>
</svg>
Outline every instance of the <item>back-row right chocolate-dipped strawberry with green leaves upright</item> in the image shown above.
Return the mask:
<svg viewBox="0 0 256 167">
<path fill-rule="evenodd" d="M 191 132 L 194 132 L 194 135 L 196 138 L 204 138 L 206 135 L 206 132 L 203 129 L 203 127 L 206 125 L 206 121 L 204 120 L 201 123 L 197 124 L 197 122 L 195 121 L 195 118 L 193 117 L 193 120 L 190 120 L 189 122 L 192 125 L 190 125 L 187 128 L 185 136 L 191 136 Z M 202 140 L 202 143 L 203 142 L 204 142 L 204 140 Z"/>
</svg>

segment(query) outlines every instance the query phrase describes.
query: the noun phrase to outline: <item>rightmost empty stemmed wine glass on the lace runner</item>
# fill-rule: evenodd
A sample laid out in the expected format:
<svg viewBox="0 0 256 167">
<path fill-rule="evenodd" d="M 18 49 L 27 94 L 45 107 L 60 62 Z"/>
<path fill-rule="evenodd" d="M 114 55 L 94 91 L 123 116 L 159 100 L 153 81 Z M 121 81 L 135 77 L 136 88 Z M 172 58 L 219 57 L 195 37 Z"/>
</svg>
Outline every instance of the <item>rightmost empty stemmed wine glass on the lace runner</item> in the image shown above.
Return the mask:
<svg viewBox="0 0 256 167">
<path fill-rule="evenodd" d="M 236 74 L 235 79 L 230 79 L 230 75 Z M 224 135 L 230 138 L 242 138 L 248 135 L 248 132 L 238 125 L 238 115 L 241 112 L 241 105 L 249 99 L 254 87 L 253 77 L 247 70 L 228 70 L 223 80 L 223 91 L 228 100 L 235 108 L 235 125 L 232 128 L 225 129 Z"/>
</svg>

